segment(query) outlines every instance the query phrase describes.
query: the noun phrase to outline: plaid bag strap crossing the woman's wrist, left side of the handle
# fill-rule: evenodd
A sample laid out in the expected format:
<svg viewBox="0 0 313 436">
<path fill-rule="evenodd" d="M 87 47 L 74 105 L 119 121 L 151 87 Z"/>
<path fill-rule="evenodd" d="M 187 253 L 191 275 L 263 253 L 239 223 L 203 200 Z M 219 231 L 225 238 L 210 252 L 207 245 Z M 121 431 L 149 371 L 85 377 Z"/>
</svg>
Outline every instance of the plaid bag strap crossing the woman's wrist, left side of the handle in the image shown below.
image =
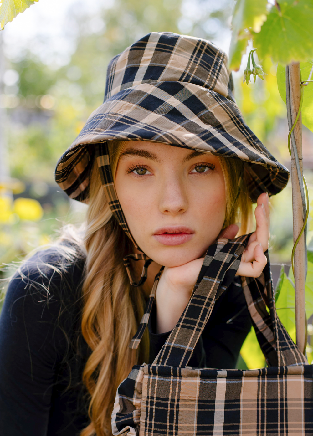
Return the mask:
<svg viewBox="0 0 313 436">
<path fill-rule="evenodd" d="M 187 366 L 215 300 L 235 277 L 248 238 L 249 235 L 230 241 L 221 238 L 209 247 L 194 293 L 153 365 Z"/>
</svg>

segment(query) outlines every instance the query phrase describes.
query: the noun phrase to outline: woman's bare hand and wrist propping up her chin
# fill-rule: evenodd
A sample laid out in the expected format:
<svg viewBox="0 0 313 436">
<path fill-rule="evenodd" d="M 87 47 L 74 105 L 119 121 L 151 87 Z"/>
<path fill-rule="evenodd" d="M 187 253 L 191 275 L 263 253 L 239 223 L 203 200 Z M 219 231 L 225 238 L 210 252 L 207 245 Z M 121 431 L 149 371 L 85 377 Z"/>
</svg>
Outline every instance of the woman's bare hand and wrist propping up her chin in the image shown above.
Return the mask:
<svg viewBox="0 0 313 436">
<path fill-rule="evenodd" d="M 264 252 L 269 246 L 269 196 L 261 194 L 255 208 L 256 230 L 248 245 L 236 276 L 259 277 L 267 263 Z M 230 225 L 218 238 L 235 238 L 238 226 Z M 204 258 L 195 259 L 185 265 L 165 267 L 157 287 L 157 333 L 172 330 L 191 297 Z"/>
</svg>

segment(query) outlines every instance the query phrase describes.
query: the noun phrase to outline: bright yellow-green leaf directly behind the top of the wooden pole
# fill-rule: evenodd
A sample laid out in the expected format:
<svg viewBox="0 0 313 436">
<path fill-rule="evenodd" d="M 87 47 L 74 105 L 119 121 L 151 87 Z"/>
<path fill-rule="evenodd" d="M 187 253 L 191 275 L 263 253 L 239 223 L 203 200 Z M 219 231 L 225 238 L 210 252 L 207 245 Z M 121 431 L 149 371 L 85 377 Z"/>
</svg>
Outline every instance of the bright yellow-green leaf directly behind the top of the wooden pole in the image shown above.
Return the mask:
<svg viewBox="0 0 313 436">
<path fill-rule="evenodd" d="M 305 81 L 312 68 L 312 62 L 300 62 L 301 80 Z M 278 64 L 277 86 L 282 100 L 286 103 L 286 67 Z M 313 82 L 303 88 L 302 123 L 313 132 Z"/>
</svg>

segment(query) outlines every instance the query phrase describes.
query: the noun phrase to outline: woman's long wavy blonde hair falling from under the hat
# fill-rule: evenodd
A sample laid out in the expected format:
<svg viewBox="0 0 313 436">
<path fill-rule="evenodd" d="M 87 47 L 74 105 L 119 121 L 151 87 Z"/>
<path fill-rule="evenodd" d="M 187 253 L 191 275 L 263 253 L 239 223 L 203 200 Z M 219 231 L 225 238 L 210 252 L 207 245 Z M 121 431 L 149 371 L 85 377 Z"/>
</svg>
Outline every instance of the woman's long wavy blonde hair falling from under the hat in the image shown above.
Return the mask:
<svg viewBox="0 0 313 436">
<path fill-rule="evenodd" d="M 126 142 L 109 141 L 113 175 Z M 225 178 L 224 227 L 240 221 L 241 234 L 251 223 L 251 201 L 239 159 L 219 157 Z M 238 186 L 240 185 L 240 190 Z M 89 207 L 85 223 L 85 279 L 82 334 L 91 349 L 83 372 L 89 395 L 91 423 L 81 436 L 108 436 L 116 389 L 134 364 L 147 362 L 149 337 L 138 350 L 128 345 L 144 312 L 145 293 L 129 284 L 123 257 L 133 248 L 129 238 L 112 218 L 95 163 L 90 177 Z M 147 333 L 147 332 L 146 332 Z"/>
</svg>

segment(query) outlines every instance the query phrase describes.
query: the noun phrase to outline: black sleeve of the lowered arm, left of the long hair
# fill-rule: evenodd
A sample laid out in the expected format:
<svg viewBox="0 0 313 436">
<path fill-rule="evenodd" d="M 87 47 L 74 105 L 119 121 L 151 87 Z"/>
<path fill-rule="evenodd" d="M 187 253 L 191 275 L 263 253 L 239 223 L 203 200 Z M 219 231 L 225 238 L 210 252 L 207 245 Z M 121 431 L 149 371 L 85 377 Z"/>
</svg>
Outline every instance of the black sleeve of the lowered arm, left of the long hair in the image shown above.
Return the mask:
<svg viewBox="0 0 313 436">
<path fill-rule="evenodd" d="M 59 327 L 61 276 L 38 256 L 10 281 L 0 316 L 1 435 L 47 435 L 57 368 L 68 351 Z"/>
</svg>

